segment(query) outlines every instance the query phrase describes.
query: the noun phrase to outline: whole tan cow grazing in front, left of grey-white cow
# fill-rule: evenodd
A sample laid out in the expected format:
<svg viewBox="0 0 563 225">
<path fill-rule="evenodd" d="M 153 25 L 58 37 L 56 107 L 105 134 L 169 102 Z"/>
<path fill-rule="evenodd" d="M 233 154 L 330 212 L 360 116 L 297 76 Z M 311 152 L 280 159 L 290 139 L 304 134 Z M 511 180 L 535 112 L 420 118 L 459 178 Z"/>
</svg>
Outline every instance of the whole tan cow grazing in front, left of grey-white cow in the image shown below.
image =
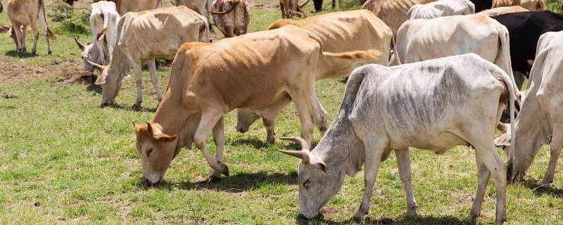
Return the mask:
<svg viewBox="0 0 563 225">
<path fill-rule="evenodd" d="M 355 57 L 354 52 L 325 53 L 317 35 L 291 25 L 213 44 L 183 44 L 172 63 L 167 91 L 156 114 L 148 124 L 135 127 L 143 183 L 163 180 L 185 140 L 193 141 L 203 152 L 214 170 L 212 177 L 228 176 L 222 148 L 217 148 L 213 157 L 205 137 L 225 113 L 235 108 L 267 108 L 289 96 L 296 104 L 301 136 L 310 143 L 313 125 L 321 132 L 327 129 L 326 113 L 315 95 L 315 77 L 311 76 L 324 54 Z M 190 117 L 199 114 L 196 127 L 185 126 Z"/>
</svg>

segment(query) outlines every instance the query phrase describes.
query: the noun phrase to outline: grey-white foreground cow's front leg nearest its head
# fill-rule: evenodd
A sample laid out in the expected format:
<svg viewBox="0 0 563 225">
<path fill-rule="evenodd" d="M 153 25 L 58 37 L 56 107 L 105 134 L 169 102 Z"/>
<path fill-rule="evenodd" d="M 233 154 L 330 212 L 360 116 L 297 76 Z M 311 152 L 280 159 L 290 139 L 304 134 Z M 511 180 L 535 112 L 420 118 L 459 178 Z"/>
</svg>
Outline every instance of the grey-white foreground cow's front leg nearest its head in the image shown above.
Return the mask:
<svg viewBox="0 0 563 225">
<path fill-rule="evenodd" d="M 355 221 L 361 221 L 365 214 L 369 212 L 369 203 L 372 200 L 372 193 L 374 191 L 374 184 L 377 179 L 377 171 L 379 170 L 379 162 L 381 162 L 381 155 L 383 154 L 386 146 L 380 141 L 364 141 L 365 146 L 365 190 L 360 209 L 354 214 Z"/>
</svg>

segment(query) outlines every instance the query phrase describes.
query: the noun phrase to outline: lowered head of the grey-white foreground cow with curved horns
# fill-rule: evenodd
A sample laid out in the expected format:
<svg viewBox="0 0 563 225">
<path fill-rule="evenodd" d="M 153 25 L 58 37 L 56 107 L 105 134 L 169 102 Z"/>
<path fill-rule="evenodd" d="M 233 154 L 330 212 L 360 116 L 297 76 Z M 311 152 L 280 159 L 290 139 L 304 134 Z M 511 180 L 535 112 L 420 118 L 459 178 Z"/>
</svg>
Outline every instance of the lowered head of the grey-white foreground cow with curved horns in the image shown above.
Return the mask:
<svg viewBox="0 0 563 225">
<path fill-rule="evenodd" d="M 310 151 L 308 143 L 300 137 L 281 139 L 295 141 L 302 148 L 302 150 L 280 151 L 301 159 L 297 167 L 299 213 L 308 219 L 316 217 L 320 208 L 339 192 L 346 173 L 341 168 L 342 166 L 327 167 L 322 157 L 315 154 L 315 150 Z M 317 148 L 320 147 L 317 146 Z"/>
</svg>

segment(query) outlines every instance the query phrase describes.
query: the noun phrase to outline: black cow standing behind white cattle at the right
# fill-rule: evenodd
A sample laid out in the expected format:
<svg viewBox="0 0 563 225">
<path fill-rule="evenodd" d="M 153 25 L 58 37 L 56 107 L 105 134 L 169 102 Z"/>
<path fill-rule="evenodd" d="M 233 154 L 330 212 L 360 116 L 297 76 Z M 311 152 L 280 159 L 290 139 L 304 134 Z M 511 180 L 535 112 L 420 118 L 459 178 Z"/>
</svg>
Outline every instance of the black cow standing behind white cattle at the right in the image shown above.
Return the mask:
<svg viewBox="0 0 563 225">
<path fill-rule="evenodd" d="M 563 30 L 563 15 L 551 11 L 519 12 L 491 17 L 507 27 L 510 34 L 510 58 L 512 69 L 521 77 L 517 78 L 520 87 L 524 77 L 530 72 L 536 56 L 536 46 L 540 35 L 550 31 Z"/>
</svg>

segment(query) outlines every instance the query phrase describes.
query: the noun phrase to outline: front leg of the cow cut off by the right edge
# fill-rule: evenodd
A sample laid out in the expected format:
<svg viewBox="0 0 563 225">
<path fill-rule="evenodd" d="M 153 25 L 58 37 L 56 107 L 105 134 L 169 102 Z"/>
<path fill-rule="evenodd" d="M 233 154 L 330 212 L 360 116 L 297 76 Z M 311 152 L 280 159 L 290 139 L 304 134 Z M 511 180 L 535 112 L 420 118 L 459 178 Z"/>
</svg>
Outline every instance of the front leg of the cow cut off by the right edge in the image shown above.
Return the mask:
<svg viewBox="0 0 563 225">
<path fill-rule="evenodd" d="M 548 165 L 548 170 L 545 171 L 545 176 L 543 176 L 543 181 L 541 181 L 541 187 L 549 187 L 553 182 L 553 176 L 555 176 L 555 167 L 557 167 L 557 160 L 561 154 L 561 148 L 563 146 L 563 127 L 559 125 L 557 121 L 554 120 L 555 126 L 553 127 L 553 136 L 550 144 L 550 164 Z"/>
</svg>

